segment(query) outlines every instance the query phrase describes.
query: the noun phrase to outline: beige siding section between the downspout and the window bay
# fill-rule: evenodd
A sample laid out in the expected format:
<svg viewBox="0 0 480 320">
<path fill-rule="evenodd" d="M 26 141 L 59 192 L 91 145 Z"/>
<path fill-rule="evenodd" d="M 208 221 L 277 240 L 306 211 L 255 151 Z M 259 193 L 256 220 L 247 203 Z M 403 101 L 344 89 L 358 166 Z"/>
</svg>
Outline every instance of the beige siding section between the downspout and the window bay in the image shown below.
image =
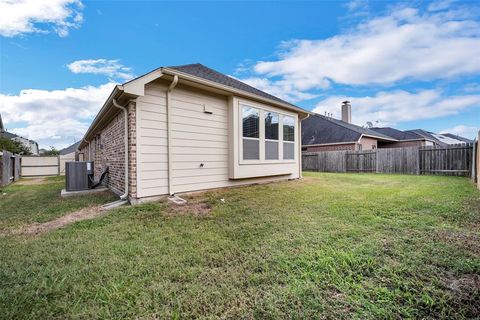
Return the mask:
<svg viewBox="0 0 480 320">
<path fill-rule="evenodd" d="M 227 106 L 224 96 L 185 87 L 175 89 L 171 118 L 175 192 L 228 184 Z M 205 113 L 205 107 L 212 114 Z"/>
</svg>

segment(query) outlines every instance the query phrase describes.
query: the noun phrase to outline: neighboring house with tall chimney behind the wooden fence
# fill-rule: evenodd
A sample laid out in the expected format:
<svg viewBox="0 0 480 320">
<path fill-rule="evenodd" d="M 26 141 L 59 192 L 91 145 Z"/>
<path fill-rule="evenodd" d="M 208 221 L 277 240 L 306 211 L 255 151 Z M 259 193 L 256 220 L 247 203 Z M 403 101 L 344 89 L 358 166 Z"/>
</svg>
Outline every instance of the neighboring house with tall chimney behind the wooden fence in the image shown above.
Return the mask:
<svg viewBox="0 0 480 320">
<path fill-rule="evenodd" d="M 342 105 L 342 120 L 312 114 L 302 121 L 302 151 L 372 150 L 397 140 L 380 132 L 354 125 L 351 105 Z"/>
</svg>

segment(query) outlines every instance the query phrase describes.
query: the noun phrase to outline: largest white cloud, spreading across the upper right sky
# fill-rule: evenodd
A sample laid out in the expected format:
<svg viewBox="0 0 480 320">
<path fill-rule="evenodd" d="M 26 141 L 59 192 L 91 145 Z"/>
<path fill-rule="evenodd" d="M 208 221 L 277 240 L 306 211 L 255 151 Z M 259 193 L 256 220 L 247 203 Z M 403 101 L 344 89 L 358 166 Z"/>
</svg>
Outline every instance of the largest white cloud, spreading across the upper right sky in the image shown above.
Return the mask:
<svg viewBox="0 0 480 320">
<path fill-rule="evenodd" d="M 348 33 L 284 42 L 277 60 L 259 61 L 253 69 L 300 91 L 332 82 L 393 85 L 478 74 L 480 22 L 470 14 L 460 7 L 435 12 L 397 7 Z"/>
</svg>

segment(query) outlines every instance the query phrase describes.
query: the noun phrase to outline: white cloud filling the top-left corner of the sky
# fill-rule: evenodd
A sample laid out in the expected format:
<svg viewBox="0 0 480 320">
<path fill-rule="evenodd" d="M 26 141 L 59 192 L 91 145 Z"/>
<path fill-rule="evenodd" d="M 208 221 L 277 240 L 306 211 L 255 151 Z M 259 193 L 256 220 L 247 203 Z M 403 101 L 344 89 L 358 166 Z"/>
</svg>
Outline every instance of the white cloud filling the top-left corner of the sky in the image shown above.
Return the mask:
<svg viewBox="0 0 480 320">
<path fill-rule="evenodd" d="M 80 0 L 0 0 L 0 35 L 55 32 L 66 37 L 83 16 Z"/>
</svg>

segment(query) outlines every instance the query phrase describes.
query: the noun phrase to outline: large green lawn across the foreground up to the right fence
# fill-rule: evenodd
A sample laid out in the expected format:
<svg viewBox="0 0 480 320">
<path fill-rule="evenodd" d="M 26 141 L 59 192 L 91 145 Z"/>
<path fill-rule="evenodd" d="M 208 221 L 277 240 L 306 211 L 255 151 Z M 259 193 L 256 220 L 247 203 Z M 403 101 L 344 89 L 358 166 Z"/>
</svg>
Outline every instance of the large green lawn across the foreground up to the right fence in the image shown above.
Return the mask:
<svg viewBox="0 0 480 320">
<path fill-rule="evenodd" d="M 0 237 L 0 317 L 480 316 L 480 192 L 466 178 L 305 175 L 191 199 L 209 214 L 151 203 Z"/>
</svg>

